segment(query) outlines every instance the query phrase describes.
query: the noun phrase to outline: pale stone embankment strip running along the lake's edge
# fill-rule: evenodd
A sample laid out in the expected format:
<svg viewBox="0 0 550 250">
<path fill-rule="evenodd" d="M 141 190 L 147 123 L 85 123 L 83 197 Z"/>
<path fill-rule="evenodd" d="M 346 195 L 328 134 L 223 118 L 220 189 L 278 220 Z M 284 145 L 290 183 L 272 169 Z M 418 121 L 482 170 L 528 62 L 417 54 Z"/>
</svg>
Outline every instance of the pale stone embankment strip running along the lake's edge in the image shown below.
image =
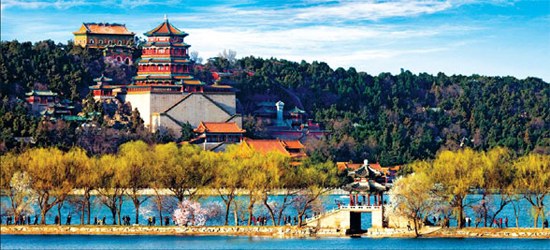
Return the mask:
<svg viewBox="0 0 550 250">
<path fill-rule="evenodd" d="M 550 239 L 550 229 L 542 228 L 425 228 L 419 238 L 509 238 Z M 422 233 L 421 232 L 421 233 Z M 0 235 L 180 235 L 180 236 L 258 236 L 273 238 L 352 237 L 335 229 L 296 226 L 66 226 L 2 225 Z M 355 234 L 365 238 L 415 238 L 406 229 L 370 229 Z"/>
</svg>

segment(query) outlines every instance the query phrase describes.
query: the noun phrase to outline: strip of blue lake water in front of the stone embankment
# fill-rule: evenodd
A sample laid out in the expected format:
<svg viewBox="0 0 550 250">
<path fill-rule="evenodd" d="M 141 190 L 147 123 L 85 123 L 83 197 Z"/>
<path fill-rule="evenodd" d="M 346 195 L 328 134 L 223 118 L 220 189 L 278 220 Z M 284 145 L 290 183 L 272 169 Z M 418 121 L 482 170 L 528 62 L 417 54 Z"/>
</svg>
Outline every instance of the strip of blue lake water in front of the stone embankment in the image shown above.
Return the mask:
<svg viewBox="0 0 550 250">
<path fill-rule="evenodd" d="M 1 235 L 1 249 L 550 249 L 540 239 L 277 239 L 244 236 Z"/>
</svg>

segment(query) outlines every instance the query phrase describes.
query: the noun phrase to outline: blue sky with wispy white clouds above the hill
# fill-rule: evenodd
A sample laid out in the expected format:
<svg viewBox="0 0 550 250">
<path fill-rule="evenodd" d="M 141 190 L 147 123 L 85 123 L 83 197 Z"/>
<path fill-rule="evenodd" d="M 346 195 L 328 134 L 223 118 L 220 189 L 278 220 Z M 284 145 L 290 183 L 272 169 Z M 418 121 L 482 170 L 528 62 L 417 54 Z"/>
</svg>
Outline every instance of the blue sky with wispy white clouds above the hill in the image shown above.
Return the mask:
<svg viewBox="0 0 550 250">
<path fill-rule="evenodd" d="M 1 39 L 65 43 L 82 22 L 125 23 L 142 35 L 163 21 L 203 58 L 325 61 L 376 75 L 535 76 L 550 81 L 550 0 L 1 0 Z"/>
</svg>

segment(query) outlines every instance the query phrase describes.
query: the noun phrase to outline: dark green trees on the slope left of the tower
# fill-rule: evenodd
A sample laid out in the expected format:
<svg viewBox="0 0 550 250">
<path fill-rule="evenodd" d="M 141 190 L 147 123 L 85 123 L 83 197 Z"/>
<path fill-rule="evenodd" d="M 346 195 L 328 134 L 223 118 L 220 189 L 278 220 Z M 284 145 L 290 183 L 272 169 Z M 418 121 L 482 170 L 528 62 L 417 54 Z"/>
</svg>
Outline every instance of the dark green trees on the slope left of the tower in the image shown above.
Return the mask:
<svg viewBox="0 0 550 250">
<path fill-rule="evenodd" d="M 143 122 L 135 117 L 130 119 L 132 111 L 126 110 L 122 104 L 96 103 L 91 95 L 87 96 L 88 86 L 102 74 L 113 78 L 116 83 L 130 83 L 136 74 L 134 65 L 104 60 L 101 50 L 85 49 L 71 41 L 67 44 L 56 44 L 51 40 L 34 44 L 2 41 L 0 48 L 0 152 L 22 149 L 27 145 L 56 146 L 65 150 L 79 145 L 95 154 L 116 151 L 121 143 L 131 139 L 154 140 L 141 129 Z M 138 58 L 140 53 L 136 49 L 134 57 Z M 25 93 L 33 89 L 49 89 L 56 92 L 60 100 L 72 100 L 76 112 L 82 111 L 93 120 L 93 125 L 79 127 L 76 122 L 52 122 L 33 117 L 24 101 Z M 115 115 L 123 120 L 128 117 L 131 121 L 121 125 L 108 124 L 104 120 L 104 116 L 112 118 Z M 116 143 L 97 145 L 94 142 L 97 140 L 89 137 L 102 137 L 98 133 L 114 140 L 108 143 Z M 33 137 L 33 142 L 29 144 L 30 137 Z"/>
</svg>

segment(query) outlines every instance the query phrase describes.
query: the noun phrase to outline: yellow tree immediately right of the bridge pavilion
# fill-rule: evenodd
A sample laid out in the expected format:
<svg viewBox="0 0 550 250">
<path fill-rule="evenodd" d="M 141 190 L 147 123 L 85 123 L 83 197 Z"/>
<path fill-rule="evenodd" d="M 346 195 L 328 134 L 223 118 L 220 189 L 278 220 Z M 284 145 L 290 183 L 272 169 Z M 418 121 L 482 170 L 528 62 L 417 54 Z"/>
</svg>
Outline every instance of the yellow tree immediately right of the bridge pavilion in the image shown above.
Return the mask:
<svg viewBox="0 0 550 250">
<path fill-rule="evenodd" d="M 426 162 L 415 164 L 425 165 Z M 413 221 L 414 233 L 418 237 L 419 225 L 431 214 L 437 203 L 441 202 L 436 196 L 433 181 L 425 173 L 413 173 L 401 177 L 394 182 L 389 192 L 390 204 L 387 209 L 390 213 L 405 217 Z"/>
</svg>

